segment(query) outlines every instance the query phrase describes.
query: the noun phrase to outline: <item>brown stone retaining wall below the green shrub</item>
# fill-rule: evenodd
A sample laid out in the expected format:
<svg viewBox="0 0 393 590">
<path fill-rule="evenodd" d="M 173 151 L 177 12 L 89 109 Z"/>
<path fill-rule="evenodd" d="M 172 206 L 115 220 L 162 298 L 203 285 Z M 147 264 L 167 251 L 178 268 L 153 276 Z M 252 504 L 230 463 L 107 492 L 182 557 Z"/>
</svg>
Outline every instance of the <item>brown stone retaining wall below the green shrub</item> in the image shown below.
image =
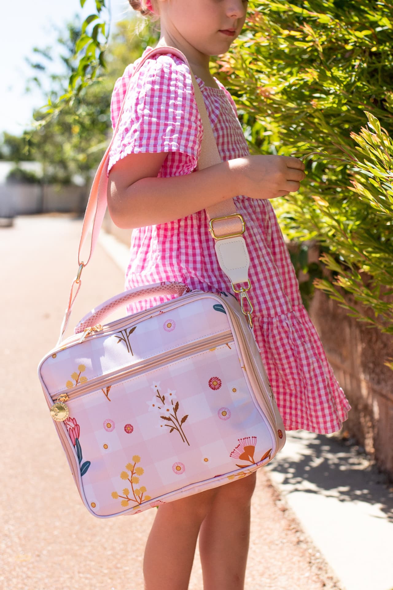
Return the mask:
<svg viewBox="0 0 393 590">
<path fill-rule="evenodd" d="M 352 406 L 344 430 L 393 480 L 393 371 L 384 365 L 393 358 L 392 336 L 348 316 L 318 290 L 310 316 Z"/>
</svg>

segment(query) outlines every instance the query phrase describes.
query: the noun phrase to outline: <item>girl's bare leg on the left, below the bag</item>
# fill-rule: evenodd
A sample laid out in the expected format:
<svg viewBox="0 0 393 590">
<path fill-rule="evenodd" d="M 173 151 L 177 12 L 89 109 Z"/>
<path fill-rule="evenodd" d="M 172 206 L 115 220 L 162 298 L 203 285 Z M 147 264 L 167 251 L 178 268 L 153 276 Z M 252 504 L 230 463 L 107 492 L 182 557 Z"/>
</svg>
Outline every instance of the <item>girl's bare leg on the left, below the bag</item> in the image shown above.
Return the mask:
<svg viewBox="0 0 393 590">
<path fill-rule="evenodd" d="M 199 528 L 216 493 L 205 490 L 160 505 L 144 552 L 145 590 L 187 590 Z"/>
</svg>

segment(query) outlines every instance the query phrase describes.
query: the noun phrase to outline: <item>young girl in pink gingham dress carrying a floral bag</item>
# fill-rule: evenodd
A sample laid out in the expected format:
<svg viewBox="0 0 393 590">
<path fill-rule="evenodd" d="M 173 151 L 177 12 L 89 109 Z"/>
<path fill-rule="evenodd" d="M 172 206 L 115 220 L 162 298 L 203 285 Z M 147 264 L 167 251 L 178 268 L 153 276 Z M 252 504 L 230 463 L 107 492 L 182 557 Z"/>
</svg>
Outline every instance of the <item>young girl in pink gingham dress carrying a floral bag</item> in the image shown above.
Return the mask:
<svg viewBox="0 0 393 590">
<path fill-rule="evenodd" d="M 233 197 L 246 222 L 255 336 L 285 427 L 337 431 L 351 407 L 302 306 L 269 202 L 298 191 L 305 166 L 289 156 L 250 156 L 235 103 L 209 71 L 210 55 L 226 53 L 242 31 L 247 2 L 130 4 L 160 19 L 158 45 L 176 47 L 189 60 L 223 162 L 196 171 L 203 129 L 189 68 L 170 53 L 149 58 L 131 83 L 108 168 L 111 217 L 118 227 L 134 230 L 126 289 L 179 281 L 191 289 L 232 292 L 217 261 L 205 208 Z M 113 126 L 138 61 L 115 84 Z M 141 309 L 133 304 L 128 313 Z M 188 588 L 198 535 L 204 590 L 242 590 L 255 483 L 253 473 L 162 504 L 144 554 L 146 590 Z"/>
</svg>

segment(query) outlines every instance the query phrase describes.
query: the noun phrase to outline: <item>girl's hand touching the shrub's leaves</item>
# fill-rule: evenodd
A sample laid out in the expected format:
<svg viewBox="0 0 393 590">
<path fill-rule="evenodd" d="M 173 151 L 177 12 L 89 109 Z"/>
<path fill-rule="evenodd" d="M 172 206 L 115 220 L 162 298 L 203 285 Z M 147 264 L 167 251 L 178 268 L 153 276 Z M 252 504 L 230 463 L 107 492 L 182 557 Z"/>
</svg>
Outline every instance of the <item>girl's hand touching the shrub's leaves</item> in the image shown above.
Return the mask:
<svg viewBox="0 0 393 590">
<path fill-rule="evenodd" d="M 237 177 L 239 195 L 251 199 L 274 199 L 300 188 L 306 178 L 302 160 L 292 156 L 246 156 L 229 160 Z"/>
</svg>

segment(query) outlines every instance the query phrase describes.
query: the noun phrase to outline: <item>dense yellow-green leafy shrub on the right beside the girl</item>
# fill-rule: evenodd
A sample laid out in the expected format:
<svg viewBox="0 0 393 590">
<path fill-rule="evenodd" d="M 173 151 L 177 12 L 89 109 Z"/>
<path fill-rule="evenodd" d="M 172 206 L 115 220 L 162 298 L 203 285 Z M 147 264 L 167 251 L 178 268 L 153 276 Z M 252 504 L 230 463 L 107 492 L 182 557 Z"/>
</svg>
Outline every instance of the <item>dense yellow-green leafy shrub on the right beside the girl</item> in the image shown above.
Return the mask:
<svg viewBox="0 0 393 590">
<path fill-rule="evenodd" d="M 272 204 L 290 240 L 321 244 L 316 287 L 391 333 L 392 27 L 392 2 L 255 0 L 216 73 L 252 153 L 304 158 L 300 191 Z"/>
</svg>

